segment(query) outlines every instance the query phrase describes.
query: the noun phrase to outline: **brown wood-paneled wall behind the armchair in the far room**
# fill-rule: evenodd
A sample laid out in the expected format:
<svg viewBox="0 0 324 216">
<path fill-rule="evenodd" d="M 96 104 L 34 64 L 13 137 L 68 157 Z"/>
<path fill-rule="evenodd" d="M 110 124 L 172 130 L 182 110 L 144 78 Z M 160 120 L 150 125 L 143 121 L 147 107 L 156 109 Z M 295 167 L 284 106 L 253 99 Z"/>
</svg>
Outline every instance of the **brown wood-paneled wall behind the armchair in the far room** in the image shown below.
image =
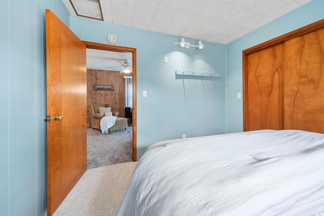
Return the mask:
<svg viewBox="0 0 324 216">
<path fill-rule="evenodd" d="M 124 73 L 111 70 L 87 69 L 87 102 L 90 104 L 110 104 L 111 111 L 125 117 L 125 79 Z M 127 74 L 132 76 L 132 74 Z M 95 91 L 96 85 L 113 85 L 114 91 Z M 88 112 L 88 126 L 90 126 Z"/>
</svg>

